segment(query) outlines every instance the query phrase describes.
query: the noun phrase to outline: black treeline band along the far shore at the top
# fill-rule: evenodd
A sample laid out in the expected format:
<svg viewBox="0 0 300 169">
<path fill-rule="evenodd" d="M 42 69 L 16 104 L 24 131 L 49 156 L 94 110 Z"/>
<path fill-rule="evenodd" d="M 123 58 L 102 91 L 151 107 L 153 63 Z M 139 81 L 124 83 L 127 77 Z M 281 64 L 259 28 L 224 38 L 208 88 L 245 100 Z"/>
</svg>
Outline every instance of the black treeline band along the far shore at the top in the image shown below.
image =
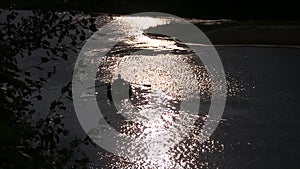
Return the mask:
<svg viewBox="0 0 300 169">
<path fill-rule="evenodd" d="M 166 12 L 181 17 L 230 18 L 238 20 L 272 19 L 298 20 L 297 7 L 286 1 L 211 1 L 211 0 L 7 0 L 0 8 L 77 10 L 100 13 L 131 14 L 136 12 Z"/>
</svg>

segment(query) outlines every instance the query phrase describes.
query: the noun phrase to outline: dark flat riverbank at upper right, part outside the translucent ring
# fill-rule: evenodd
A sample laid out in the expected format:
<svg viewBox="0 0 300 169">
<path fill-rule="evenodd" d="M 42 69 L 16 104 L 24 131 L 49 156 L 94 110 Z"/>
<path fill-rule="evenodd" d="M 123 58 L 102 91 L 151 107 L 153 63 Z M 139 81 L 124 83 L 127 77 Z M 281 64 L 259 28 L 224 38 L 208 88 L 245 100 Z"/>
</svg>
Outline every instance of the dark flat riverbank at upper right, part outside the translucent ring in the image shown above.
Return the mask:
<svg viewBox="0 0 300 169">
<path fill-rule="evenodd" d="M 236 21 L 197 25 L 214 45 L 280 45 L 300 47 L 299 21 Z"/>
</svg>

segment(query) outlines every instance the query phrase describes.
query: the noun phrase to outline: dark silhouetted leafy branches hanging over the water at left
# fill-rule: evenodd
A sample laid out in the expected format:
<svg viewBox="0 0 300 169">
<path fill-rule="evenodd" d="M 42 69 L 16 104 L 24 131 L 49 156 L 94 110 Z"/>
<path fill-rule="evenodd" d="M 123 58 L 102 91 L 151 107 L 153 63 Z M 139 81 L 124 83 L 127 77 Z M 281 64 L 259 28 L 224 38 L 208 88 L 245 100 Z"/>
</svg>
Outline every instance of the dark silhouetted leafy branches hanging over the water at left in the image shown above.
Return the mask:
<svg viewBox="0 0 300 169">
<path fill-rule="evenodd" d="M 93 17 L 51 11 L 33 11 L 23 17 L 2 11 L 1 17 L 0 168 L 87 168 L 89 158 L 81 145 L 91 144 L 88 138 L 68 138 L 69 145 L 60 144 L 69 135 L 63 98 L 72 99 L 71 83 L 62 87 L 61 95 L 44 112 L 38 112 L 33 101 L 43 100 L 41 89 L 56 73 L 55 66 L 45 72 L 42 65 L 67 60 L 69 53 L 78 52 L 96 30 Z M 40 62 L 20 69 L 18 62 L 37 50 L 43 51 Z M 41 77 L 32 77 L 33 69 Z"/>
</svg>

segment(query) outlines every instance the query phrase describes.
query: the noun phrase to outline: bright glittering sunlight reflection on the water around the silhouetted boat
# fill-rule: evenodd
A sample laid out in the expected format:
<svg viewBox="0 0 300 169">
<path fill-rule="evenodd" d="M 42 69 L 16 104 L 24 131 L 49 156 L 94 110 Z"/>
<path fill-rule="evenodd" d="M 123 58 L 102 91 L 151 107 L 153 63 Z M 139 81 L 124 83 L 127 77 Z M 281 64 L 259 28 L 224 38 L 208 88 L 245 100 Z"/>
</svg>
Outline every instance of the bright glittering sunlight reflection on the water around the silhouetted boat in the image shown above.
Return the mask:
<svg viewBox="0 0 300 169">
<path fill-rule="evenodd" d="M 116 128 L 122 137 L 135 138 L 128 143 L 132 154 L 139 151 L 139 155 L 130 159 L 111 159 L 115 162 L 109 168 L 202 168 L 209 165 L 197 160 L 202 153 L 224 149 L 214 139 L 199 143 L 203 139 L 201 129 L 207 120 L 207 110 L 180 109 L 181 102 L 197 97 L 204 100 L 201 105 L 209 105 L 211 81 L 201 60 L 176 39 L 142 31 L 170 22 L 180 20 L 127 17 L 124 22 L 123 19 L 117 29 L 128 30 L 130 37 L 120 39 L 100 61 L 96 77 L 99 107 L 105 107 L 107 121 L 115 127 L 120 125 Z M 107 93 L 117 75 L 130 84 L 132 94 L 122 100 L 121 109 L 116 111 Z M 231 86 L 231 94 L 239 90 L 239 86 Z M 193 106 L 199 105 L 190 105 Z M 111 118 L 110 113 L 114 114 Z M 126 119 L 114 118 L 119 115 Z M 120 152 L 122 148 L 116 147 Z M 109 155 L 100 156 L 101 160 Z"/>
</svg>

